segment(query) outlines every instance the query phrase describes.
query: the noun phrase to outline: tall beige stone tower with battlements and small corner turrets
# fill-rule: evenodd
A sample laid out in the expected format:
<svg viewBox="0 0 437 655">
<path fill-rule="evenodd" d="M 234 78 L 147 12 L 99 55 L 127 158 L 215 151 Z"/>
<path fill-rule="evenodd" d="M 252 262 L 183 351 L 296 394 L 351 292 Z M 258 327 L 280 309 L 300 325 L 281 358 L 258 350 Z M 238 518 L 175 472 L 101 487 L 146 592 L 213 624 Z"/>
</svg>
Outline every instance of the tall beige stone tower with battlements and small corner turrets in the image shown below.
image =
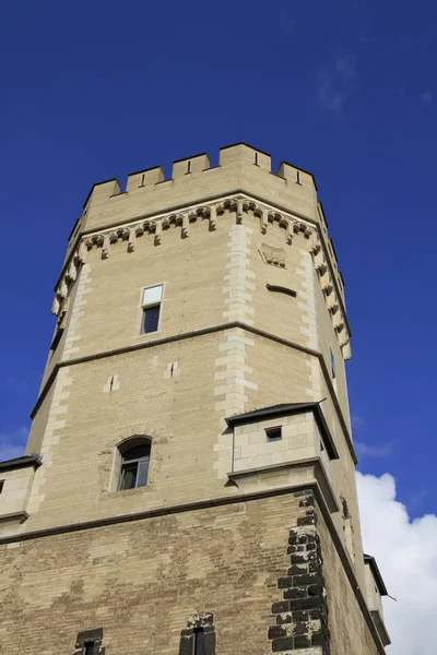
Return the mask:
<svg viewBox="0 0 437 655">
<path fill-rule="evenodd" d="M 0 463 L 0 653 L 383 654 L 312 175 L 238 143 L 95 184 L 52 311 Z"/>
</svg>

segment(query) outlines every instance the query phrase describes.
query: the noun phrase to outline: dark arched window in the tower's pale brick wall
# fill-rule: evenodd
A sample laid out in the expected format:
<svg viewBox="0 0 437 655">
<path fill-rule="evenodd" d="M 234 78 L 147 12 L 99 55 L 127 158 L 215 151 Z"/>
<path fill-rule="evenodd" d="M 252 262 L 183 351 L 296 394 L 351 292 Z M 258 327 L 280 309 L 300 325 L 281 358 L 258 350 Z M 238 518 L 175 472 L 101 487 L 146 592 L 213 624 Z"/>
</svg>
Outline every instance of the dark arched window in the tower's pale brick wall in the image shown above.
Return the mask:
<svg viewBox="0 0 437 655">
<path fill-rule="evenodd" d="M 151 442 L 146 437 L 132 437 L 119 445 L 121 471 L 118 489 L 145 487 L 149 479 Z"/>
</svg>

